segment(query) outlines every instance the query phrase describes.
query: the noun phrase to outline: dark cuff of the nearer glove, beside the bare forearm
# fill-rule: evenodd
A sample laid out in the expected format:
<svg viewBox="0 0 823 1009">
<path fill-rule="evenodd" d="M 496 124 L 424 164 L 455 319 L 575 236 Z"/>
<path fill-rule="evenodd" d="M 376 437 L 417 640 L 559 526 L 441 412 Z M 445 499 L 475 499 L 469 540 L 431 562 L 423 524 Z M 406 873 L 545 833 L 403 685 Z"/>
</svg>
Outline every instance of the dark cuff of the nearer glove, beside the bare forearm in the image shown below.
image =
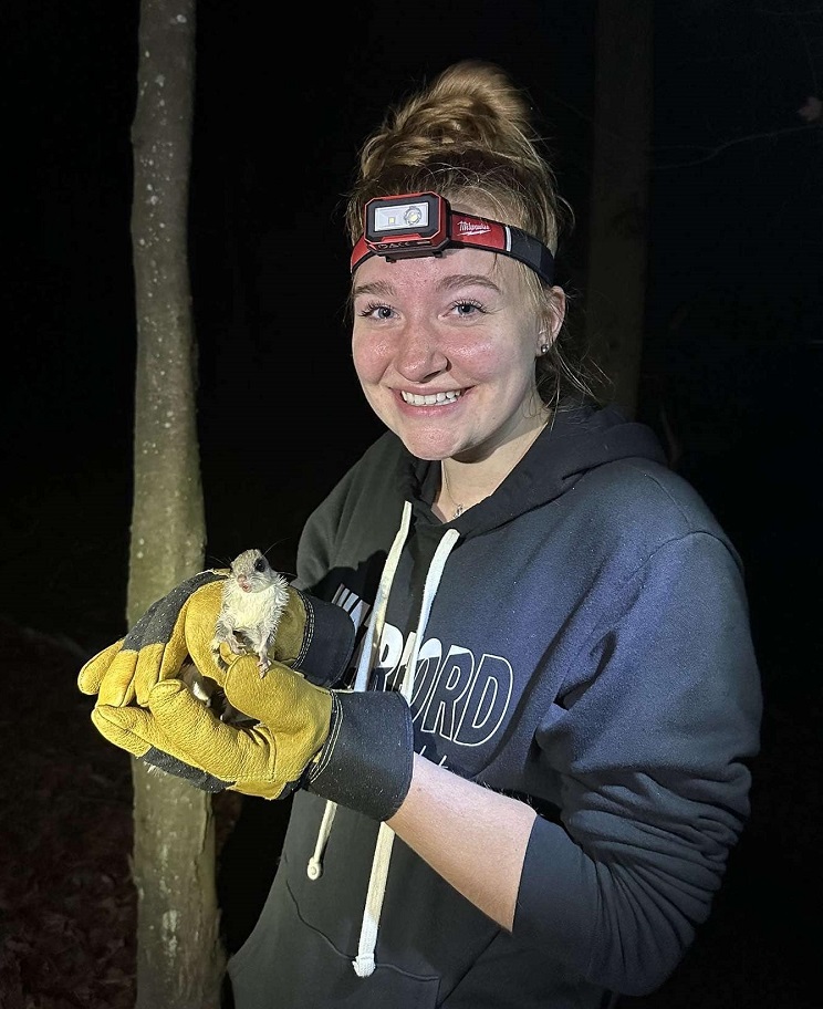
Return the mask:
<svg viewBox="0 0 823 1009">
<path fill-rule="evenodd" d="M 412 710 L 394 690 L 332 691 L 329 739 L 309 767 L 308 791 L 388 820 L 412 784 Z"/>
</svg>

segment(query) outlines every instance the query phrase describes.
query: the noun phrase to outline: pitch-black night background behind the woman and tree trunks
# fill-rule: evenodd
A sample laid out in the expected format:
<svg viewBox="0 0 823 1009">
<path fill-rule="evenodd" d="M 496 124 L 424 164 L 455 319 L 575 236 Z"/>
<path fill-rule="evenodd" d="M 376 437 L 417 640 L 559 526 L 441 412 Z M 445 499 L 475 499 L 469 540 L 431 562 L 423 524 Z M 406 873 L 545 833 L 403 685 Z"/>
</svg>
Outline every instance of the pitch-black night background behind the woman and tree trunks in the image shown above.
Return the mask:
<svg viewBox="0 0 823 1009">
<path fill-rule="evenodd" d="M 138 13 L 79 0 L 0 14 L 0 615 L 82 653 L 124 630 Z M 481 56 L 529 89 L 576 212 L 561 269 L 585 311 L 594 13 L 591 0 L 324 13 L 200 0 L 190 267 L 208 563 L 258 544 L 293 570 L 309 511 L 379 433 L 344 324 L 342 206 L 358 145 L 423 79 Z M 665 409 L 678 468 L 740 549 L 767 699 L 751 829 L 684 977 L 786 1009 L 823 1005 L 811 977 L 823 129 L 799 115 L 821 74 L 821 2 L 655 4 L 638 413 L 659 426 Z"/>
</svg>

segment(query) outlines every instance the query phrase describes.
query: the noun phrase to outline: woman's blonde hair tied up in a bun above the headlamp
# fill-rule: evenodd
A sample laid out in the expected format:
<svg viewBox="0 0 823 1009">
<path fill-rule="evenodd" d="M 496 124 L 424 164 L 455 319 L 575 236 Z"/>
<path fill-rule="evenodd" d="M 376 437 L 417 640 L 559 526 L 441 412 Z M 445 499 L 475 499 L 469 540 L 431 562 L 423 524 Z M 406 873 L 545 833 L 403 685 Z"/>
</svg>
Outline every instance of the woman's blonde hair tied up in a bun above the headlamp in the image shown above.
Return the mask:
<svg viewBox="0 0 823 1009">
<path fill-rule="evenodd" d="M 346 208 L 354 246 L 363 235 L 366 202 L 378 196 L 433 190 L 460 209 L 513 225 L 552 252 L 574 223 L 558 193 L 551 163 L 527 92 L 493 63 L 463 60 L 428 86 L 389 107 L 363 144 Z M 520 264 L 519 264 L 520 266 Z M 552 295 L 536 273 L 521 267 L 539 313 L 552 311 Z M 582 355 L 565 347 L 567 326 L 538 357 L 541 398 L 558 405 L 567 393 L 592 397 Z"/>
</svg>

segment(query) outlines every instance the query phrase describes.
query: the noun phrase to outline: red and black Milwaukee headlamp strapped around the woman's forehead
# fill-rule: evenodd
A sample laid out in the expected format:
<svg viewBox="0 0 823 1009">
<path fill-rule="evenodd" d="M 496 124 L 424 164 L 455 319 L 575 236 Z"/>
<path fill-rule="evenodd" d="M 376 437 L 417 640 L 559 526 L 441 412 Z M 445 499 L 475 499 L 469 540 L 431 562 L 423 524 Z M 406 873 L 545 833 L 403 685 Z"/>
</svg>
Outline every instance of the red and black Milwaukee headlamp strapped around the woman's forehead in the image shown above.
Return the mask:
<svg viewBox="0 0 823 1009">
<path fill-rule="evenodd" d="M 448 248 L 485 249 L 510 256 L 544 280 L 554 282 L 551 251 L 520 228 L 452 210 L 437 193 L 404 193 L 368 200 L 363 237 L 352 251 L 352 273 L 369 256 L 388 262 L 418 256 L 440 256 Z"/>
</svg>

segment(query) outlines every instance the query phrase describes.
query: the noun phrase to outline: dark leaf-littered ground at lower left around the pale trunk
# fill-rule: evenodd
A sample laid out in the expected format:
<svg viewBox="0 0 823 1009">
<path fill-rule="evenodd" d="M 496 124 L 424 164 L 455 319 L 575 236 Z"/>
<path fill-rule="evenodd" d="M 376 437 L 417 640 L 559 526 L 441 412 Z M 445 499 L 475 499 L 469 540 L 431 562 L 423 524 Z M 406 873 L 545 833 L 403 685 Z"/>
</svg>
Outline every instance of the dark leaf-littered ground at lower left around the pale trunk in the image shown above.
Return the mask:
<svg viewBox="0 0 823 1009">
<path fill-rule="evenodd" d="M 131 1009 L 131 758 L 88 720 L 77 645 L 0 620 L 0 1007 Z M 239 800 L 216 800 L 220 847 Z"/>
</svg>

